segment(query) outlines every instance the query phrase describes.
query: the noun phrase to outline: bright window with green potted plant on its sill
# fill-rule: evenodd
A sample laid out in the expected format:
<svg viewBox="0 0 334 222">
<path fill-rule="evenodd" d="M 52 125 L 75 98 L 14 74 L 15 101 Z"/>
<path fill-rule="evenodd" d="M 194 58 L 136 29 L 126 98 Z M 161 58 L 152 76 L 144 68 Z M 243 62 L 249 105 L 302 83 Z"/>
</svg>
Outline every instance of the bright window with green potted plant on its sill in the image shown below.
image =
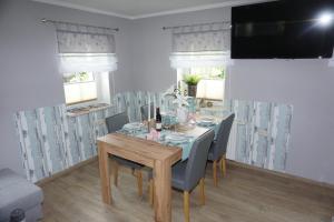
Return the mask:
<svg viewBox="0 0 334 222">
<path fill-rule="evenodd" d="M 207 100 L 223 100 L 225 91 L 226 69 L 224 67 L 179 68 L 177 69 L 178 88 L 187 92 L 185 75 L 198 75 L 197 98 Z"/>
</svg>

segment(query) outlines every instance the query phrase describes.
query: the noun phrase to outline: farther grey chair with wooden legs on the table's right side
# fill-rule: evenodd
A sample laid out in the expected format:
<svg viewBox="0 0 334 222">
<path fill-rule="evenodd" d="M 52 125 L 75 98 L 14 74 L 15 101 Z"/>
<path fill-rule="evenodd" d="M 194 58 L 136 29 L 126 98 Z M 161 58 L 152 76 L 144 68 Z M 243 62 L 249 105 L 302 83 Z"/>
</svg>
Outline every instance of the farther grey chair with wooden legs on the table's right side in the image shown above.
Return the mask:
<svg viewBox="0 0 334 222">
<path fill-rule="evenodd" d="M 230 114 L 228 118 L 222 121 L 220 128 L 218 130 L 216 139 L 213 141 L 208 160 L 213 161 L 213 174 L 214 174 L 214 184 L 218 185 L 217 178 L 217 163 L 219 162 L 219 168 L 223 176 L 226 175 L 226 149 L 229 138 L 229 132 L 233 125 L 235 114 Z"/>
</svg>

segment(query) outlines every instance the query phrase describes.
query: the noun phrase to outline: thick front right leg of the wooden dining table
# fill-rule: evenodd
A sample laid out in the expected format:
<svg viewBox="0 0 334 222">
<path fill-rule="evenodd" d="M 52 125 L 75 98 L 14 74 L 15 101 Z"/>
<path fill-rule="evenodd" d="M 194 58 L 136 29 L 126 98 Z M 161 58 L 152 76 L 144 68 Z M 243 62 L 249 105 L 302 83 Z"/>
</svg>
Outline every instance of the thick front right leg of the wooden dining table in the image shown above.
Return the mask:
<svg viewBox="0 0 334 222">
<path fill-rule="evenodd" d="M 169 161 L 155 161 L 154 167 L 155 221 L 171 221 L 171 165 Z"/>
</svg>

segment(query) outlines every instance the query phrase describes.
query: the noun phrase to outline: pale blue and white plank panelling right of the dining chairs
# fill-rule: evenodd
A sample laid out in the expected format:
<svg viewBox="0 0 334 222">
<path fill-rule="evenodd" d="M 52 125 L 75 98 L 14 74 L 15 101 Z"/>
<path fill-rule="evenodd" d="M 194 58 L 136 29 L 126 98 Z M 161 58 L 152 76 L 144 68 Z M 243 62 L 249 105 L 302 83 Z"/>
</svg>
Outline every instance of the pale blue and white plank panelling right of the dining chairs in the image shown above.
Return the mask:
<svg viewBox="0 0 334 222">
<path fill-rule="evenodd" d="M 227 158 L 285 172 L 293 107 L 274 102 L 225 101 L 236 113 Z"/>
</svg>

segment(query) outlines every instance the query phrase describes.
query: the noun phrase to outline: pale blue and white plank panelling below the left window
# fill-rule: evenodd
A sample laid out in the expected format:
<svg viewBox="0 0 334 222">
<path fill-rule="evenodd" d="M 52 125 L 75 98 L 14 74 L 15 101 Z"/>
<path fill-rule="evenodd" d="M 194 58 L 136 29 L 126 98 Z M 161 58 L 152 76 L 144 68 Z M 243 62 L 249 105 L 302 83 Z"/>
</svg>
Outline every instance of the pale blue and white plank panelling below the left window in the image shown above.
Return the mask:
<svg viewBox="0 0 334 222">
<path fill-rule="evenodd" d="M 14 113 L 27 179 L 37 182 L 97 155 L 96 138 L 107 133 L 105 118 L 116 109 L 67 117 L 66 105 Z"/>
</svg>

